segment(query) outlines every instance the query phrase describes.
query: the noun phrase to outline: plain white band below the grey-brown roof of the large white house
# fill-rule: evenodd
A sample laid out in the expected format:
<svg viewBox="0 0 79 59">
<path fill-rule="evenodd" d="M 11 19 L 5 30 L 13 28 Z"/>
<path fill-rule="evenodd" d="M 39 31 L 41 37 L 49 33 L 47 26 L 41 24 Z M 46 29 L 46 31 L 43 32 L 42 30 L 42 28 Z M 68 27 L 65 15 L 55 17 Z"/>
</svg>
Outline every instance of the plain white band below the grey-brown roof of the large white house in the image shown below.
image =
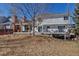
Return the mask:
<svg viewBox="0 0 79 59">
<path fill-rule="evenodd" d="M 54 19 L 43 19 L 42 23 L 39 25 L 57 25 L 57 24 L 69 24 L 68 20 L 63 18 L 54 18 Z"/>
</svg>

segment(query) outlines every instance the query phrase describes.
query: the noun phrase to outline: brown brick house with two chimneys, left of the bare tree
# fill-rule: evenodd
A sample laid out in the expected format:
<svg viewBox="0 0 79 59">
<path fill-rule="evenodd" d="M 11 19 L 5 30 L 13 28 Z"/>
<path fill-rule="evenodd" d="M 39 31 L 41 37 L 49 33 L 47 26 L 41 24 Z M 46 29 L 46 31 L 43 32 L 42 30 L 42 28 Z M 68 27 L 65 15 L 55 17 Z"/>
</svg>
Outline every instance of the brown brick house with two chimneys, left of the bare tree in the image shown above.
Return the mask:
<svg viewBox="0 0 79 59">
<path fill-rule="evenodd" d="M 11 19 L 13 32 L 30 32 L 32 30 L 32 23 L 25 16 L 22 19 L 18 19 L 17 16 L 12 16 Z"/>
</svg>

